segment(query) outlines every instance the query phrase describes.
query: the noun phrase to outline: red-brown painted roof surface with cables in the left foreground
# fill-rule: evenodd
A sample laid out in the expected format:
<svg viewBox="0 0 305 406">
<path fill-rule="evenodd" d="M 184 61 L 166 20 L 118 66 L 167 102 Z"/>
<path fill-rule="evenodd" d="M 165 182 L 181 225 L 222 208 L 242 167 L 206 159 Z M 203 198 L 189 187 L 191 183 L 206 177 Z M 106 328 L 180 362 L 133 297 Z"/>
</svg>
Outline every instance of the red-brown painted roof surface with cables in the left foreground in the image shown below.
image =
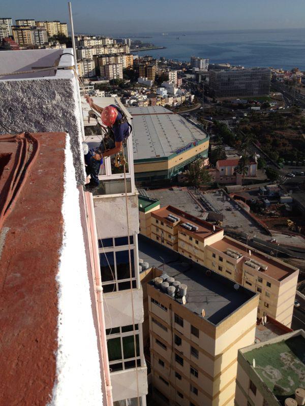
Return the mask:
<svg viewBox="0 0 305 406">
<path fill-rule="evenodd" d="M 54 386 L 65 145 L 65 133 L 0 138 L 3 406 L 45 406 Z"/>
</svg>

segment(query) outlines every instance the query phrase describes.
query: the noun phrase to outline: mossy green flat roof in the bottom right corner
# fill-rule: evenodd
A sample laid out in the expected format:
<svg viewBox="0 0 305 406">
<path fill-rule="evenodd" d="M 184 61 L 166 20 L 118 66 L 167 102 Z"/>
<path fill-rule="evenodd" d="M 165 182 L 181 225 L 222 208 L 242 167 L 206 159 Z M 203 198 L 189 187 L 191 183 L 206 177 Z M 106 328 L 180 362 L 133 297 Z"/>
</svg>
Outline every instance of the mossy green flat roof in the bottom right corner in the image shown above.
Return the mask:
<svg viewBox="0 0 305 406">
<path fill-rule="evenodd" d="M 305 339 L 301 331 L 294 336 L 288 333 L 282 341 L 242 351 L 251 365 L 255 359 L 254 371 L 282 404 L 287 397 L 294 398 L 295 389 L 304 387 Z"/>
</svg>

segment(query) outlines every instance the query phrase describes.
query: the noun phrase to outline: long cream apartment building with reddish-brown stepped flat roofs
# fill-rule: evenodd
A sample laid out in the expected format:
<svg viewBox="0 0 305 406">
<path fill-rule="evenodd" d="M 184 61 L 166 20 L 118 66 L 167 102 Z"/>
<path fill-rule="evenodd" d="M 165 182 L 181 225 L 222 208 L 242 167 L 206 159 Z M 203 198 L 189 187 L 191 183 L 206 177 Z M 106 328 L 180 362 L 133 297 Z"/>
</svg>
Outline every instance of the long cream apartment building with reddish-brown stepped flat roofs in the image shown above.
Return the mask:
<svg viewBox="0 0 305 406">
<path fill-rule="evenodd" d="M 151 239 L 259 293 L 257 317 L 268 315 L 290 327 L 298 278 L 294 266 L 172 206 L 151 213 Z"/>
</svg>

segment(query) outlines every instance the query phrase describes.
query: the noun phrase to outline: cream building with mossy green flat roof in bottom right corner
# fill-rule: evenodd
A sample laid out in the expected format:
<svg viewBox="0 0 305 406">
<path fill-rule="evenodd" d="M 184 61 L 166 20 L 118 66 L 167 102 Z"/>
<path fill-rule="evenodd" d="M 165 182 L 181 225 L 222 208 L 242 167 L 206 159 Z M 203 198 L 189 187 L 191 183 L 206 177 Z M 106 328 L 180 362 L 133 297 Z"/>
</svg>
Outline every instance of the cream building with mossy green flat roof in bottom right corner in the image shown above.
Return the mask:
<svg viewBox="0 0 305 406">
<path fill-rule="evenodd" d="M 238 351 L 235 406 L 305 402 L 305 332 L 291 331 Z"/>
</svg>

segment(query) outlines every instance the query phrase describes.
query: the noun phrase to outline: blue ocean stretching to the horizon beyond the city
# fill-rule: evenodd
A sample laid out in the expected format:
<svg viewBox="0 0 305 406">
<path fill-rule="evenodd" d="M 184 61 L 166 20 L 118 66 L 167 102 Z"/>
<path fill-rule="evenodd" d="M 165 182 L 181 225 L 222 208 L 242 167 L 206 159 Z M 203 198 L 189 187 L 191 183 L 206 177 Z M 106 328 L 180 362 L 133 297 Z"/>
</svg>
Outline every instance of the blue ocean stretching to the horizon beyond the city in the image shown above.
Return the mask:
<svg viewBox="0 0 305 406">
<path fill-rule="evenodd" d="M 165 33 L 167 33 L 165 31 Z M 189 61 L 192 55 L 210 62 L 234 65 L 272 66 L 305 70 L 305 28 L 242 31 L 198 31 L 136 33 L 133 38 L 166 49 L 139 52 L 139 55 L 164 56 Z M 151 38 L 141 38 L 149 36 Z"/>
</svg>

